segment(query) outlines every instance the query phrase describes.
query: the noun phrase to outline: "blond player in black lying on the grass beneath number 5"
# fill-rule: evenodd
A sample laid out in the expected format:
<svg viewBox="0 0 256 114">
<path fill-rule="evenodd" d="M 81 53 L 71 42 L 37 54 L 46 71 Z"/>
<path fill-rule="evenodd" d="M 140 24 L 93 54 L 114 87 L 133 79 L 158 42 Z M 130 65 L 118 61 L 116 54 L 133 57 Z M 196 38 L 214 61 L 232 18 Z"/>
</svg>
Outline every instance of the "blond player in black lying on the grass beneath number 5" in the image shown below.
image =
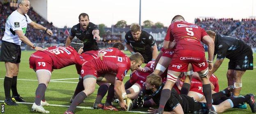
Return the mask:
<svg viewBox="0 0 256 114">
<path fill-rule="evenodd" d="M 158 75 L 153 75 L 153 74 L 149 75 L 145 83 L 146 91 L 144 91 L 146 94 L 151 94 L 152 99 L 155 101 L 155 103 L 158 103 L 157 105 L 159 105 L 159 100 L 160 100 L 159 96 L 164 86 L 163 83 L 159 83 L 159 82 L 162 82 L 162 79 Z M 224 91 L 230 92 L 228 89 L 225 89 Z M 138 99 L 140 99 L 140 96 L 138 97 Z M 137 100 L 137 101 L 141 101 L 141 100 Z M 222 113 L 225 110 L 232 108 L 234 105 L 237 105 L 243 102 L 246 102 L 250 105 L 251 111 L 253 113 L 256 112 L 256 103 L 254 100 L 254 94 L 247 94 L 244 97 L 235 98 L 235 99 L 227 99 L 226 101 L 220 103 L 219 105 L 213 105 L 213 107 L 217 113 Z M 138 104 L 141 104 L 141 103 L 138 103 Z M 206 114 L 209 111 L 206 103 L 198 102 L 194 100 L 192 97 L 187 96 L 185 94 L 178 94 L 174 88 L 171 89 L 171 96 L 167 100 L 167 103 L 165 104 L 164 108 L 167 111 L 167 112 L 163 112 L 164 114 L 167 114 L 167 113 L 168 114 L 169 113 Z M 157 110 L 154 108 L 150 108 L 150 110 L 148 111 L 151 114 L 155 114 L 157 112 Z"/>
</svg>

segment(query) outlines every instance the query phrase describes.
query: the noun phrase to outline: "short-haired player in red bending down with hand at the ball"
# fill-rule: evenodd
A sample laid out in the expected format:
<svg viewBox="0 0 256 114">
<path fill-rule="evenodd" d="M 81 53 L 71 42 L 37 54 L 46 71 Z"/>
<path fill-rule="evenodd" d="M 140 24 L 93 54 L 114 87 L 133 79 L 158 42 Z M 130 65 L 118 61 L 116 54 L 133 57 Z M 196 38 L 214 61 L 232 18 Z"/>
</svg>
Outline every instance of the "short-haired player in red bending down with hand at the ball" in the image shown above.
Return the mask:
<svg viewBox="0 0 256 114">
<path fill-rule="evenodd" d="M 105 82 L 114 83 L 114 91 L 120 101 L 119 105 L 123 110 L 127 109 L 126 103 L 123 101 L 121 88 L 124 88 L 123 78 L 128 70 L 136 70 L 142 65 L 144 58 L 139 53 L 133 53 L 130 57 L 103 56 L 88 61 L 82 66 L 81 76 L 85 90 L 78 93 L 71 103 L 69 109 L 64 114 L 73 114 L 77 107 L 87 96 L 91 95 L 95 90 L 97 77 L 108 72 L 117 73 L 111 77 L 105 78 Z M 101 79 L 103 81 L 103 79 Z"/>
</svg>

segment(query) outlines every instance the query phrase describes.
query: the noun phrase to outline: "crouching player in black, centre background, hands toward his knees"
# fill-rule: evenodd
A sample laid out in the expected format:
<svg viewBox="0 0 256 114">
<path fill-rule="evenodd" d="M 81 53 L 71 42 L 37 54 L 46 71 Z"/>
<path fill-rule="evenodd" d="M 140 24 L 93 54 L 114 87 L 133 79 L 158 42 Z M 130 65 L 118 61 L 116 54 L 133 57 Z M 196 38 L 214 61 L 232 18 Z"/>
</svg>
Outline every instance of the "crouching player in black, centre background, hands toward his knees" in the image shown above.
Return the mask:
<svg viewBox="0 0 256 114">
<path fill-rule="evenodd" d="M 138 52 L 144 57 L 144 63 L 155 60 L 158 49 L 154 38 L 146 31 L 142 31 L 139 24 L 133 24 L 125 35 L 126 48 L 130 53 Z"/>
</svg>

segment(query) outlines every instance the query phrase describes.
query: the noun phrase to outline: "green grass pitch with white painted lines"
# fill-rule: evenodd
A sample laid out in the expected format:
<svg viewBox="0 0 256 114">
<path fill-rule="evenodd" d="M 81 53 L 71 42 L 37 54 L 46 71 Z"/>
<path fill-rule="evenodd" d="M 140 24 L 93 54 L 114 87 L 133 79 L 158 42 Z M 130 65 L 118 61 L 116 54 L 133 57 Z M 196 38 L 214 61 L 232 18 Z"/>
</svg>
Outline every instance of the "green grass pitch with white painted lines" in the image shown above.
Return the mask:
<svg viewBox="0 0 256 114">
<path fill-rule="evenodd" d="M 21 57 L 21 64 L 19 69 L 18 79 L 37 79 L 35 72 L 30 69 L 29 67 L 29 57 L 34 51 L 22 51 Z M 130 55 L 127 51 L 125 52 Z M 256 54 L 254 53 L 254 57 Z M 219 86 L 220 90 L 226 88 L 227 86 L 227 79 L 226 79 L 226 71 L 228 66 L 228 59 L 225 59 L 217 70 L 215 75 L 219 78 Z M 256 59 L 254 58 L 254 66 L 256 66 Z M 256 94 L 256 70 L 247 70 L 242 77 L 243 87 L 241 94 L 245 95 L 248 93 Z M 4 62 L 0 62 L 0 83 L 3 83 L 3 78 L 5 77 L 5 65 Z M 130 74 L 130 71 L 128 72 Z M 51 79 L 67 79 L 67 78 L 78 78 L 76 74 L 75 66 L 68 66 L 66 68 L 62 68 L 59 70 L 54 70 L 52 73 Z M 124 83 L 128 80 L 129 77 L 125 77 Z M 78 79 L 70 79 L 70 80 L 62 80 L 62 81 L 72 81 L 77 82 Z M 46 100 L 50 104 L 55 105 L 70 105 L 69 99 L 73 95 L 75 90 L 76 83 L 59 83 L 59 82 L 50 82 L 48 88 L 46 90 Z M 0 85 L 0 100 L 5 99 L 5 92 L 3 84 Z M 35 90 L 37 88 L 37 81 L 25 81 L 25 80 L 18 80 L 18 92 L 19 94 L 27 100 L 28 103 L 34 102 Z M 94 100 L 96 98 L 98 90 L 97 88 L 91 96 L 85 99 L 86 103 L 81 103 L 79 106 L 83 107 L 92 107 Z M 2 102 L 1 102 L 2 103 Z M 105 103 L 105 98 L 103 99 L 103 103 Z M 116 104 L 118 106 L 118 104 Z M 5 113 L 6 114 L 30 114 L 35 112 L 30 112 L 32 105 L 31 104 L 19 104 L 19 106 L 8 106 L 5 105 Z M 59 106 L 47 106 L 44 107 L 46 110 L 49 110 L 51 114 L 63 114 L 66 111 L 67 107 L 59 107 Z M 146 111 L 147 108 L 144 109 L 137 109 L 136 111 Z M 76 114 L 135 114 L 134 112 L 112 112 L 112 111 L 104 111 L 103 110 L 91 110 L 91 109 L 84 109 L 84 108 L 77 108 L 75 110 Z M 251 109 L 248 105 L 247 110 L 240 110 L 240 109 L 230 109 L 227 110 L 224 114 L 249 114 L 251 113 Z"/>
</svg>

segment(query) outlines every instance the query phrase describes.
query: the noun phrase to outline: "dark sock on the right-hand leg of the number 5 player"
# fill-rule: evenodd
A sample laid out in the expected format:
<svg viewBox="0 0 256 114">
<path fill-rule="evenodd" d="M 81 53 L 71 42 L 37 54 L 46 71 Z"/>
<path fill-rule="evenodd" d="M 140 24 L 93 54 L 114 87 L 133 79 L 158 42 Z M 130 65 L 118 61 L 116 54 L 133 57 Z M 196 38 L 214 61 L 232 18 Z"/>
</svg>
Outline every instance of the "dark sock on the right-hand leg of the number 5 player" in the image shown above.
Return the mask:
<svg viewBox="0 0 256 114">
<path fill-rule="evenodd" d="M 212 104 L 212 90 L 209 84 L 203 84 L 203 94 L 206 98 L 206 103 L 208 106 L 208 109 L 212 109 L 213 104 Z"/>
</svg>

